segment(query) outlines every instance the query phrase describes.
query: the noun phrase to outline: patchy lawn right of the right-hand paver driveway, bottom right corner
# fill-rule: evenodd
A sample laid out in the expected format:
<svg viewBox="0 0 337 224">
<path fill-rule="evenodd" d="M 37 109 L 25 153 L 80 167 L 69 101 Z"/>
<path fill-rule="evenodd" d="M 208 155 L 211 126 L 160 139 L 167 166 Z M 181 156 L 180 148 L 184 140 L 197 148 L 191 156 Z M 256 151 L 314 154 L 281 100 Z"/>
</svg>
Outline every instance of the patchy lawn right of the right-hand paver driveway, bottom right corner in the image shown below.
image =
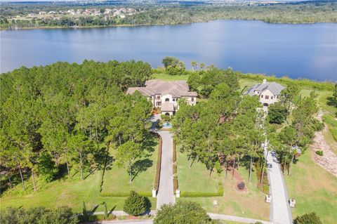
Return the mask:
<svg viewBox="0 0 337 224">
<path fill-rule="evenodd" d="M 312 153 L 306 151 L 285 176 L 289 198 L 296 199 L 293 218 L 315 211 L 322 223 L 336 223 L 337 178 L 315 164 Z"/>
</svg>

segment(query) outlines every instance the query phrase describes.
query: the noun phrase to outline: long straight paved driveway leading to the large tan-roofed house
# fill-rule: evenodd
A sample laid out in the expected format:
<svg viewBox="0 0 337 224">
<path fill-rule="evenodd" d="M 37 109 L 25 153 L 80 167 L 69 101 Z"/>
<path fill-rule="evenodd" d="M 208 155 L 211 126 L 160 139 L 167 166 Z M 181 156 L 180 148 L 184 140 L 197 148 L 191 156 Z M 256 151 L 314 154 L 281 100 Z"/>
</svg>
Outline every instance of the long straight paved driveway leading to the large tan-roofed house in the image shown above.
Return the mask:
<svg viewBox="0 0 337 224">
<path fill-rule="evenodd" d="M 176 202 L 176 197 L 173 194 L 173 135 L 169 131 L 155 130 L 154 122 L 159 118 L 160 115 L 158 116 L 158 114 L 151 118 L 152 131 L 159 133 L 163 140 L 157 209 L 160 209 L 163 204 L 174 204 Z"/>
</svg>

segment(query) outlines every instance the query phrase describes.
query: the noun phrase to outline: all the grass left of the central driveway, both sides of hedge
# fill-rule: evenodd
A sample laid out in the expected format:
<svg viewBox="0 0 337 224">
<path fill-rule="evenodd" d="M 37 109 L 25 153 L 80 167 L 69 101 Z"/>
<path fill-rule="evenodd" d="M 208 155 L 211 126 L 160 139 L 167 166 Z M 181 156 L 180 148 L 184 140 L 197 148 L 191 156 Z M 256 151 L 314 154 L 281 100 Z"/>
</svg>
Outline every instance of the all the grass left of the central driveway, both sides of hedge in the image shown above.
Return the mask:
<svg viewBox="0 0 337 224">
<path fill-rule="evenodd" d="M 157 162 L 157 146 L 149 157 L 151 166 L 146 171 L 138 173 L 133 183 L 128 182 L 126 169 L 112 165 L 112 169 L 105 172 L 103 192 L 151 192 L 154 181 L 154 172 Z M 122 210 L 125 197 L 100 197 L 100 184 L 103 171 L 91 173 L 85 180 L 81 180 L 80 174 L 75 173 L 72 178 L 62 178 L 51 183 L 42 180 L 37 181 L 38 192 L 32 192 L 32 181 L 26 180 L 28 192 L 22 192 L 21 185 L 16 185 L 1 197 L 1 208 L 8 206 L 25 208 L 35 206 L 70 206 L 75 212 L 81 212 L 83 202 L 88 210 L 96 205 L 106 202 L 108 209 Z M 84 176 L 87 176 L 85 173 Z M 152 209 L 156 209 L 156 199 L 150 198 Z M 96 211 L 104 211 L 103 206 L 98 206 Z"/>
</svg>

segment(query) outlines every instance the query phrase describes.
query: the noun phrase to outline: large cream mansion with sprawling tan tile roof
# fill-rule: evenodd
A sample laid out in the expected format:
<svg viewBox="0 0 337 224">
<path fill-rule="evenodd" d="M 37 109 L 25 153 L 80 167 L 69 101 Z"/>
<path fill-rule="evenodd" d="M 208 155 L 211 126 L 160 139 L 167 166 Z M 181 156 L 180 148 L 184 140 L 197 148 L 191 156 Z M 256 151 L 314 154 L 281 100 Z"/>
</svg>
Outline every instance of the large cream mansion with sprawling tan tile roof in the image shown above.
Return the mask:
<svg viewBox="0 0 337 224">
<path fill-rule="evenodd" d="M 128 88 L 126 94 L 139 91 L 151 100 L 153 107 L 159 108 L 161 114 L 173 115 L 178 109 L 178 100 L 185 98 L 189 105 L 197 103 L 197 93 L 190 91 L 186 81 L 165 81 L 151 79 L 145 82 L 145 87 Z"/>
</svg>

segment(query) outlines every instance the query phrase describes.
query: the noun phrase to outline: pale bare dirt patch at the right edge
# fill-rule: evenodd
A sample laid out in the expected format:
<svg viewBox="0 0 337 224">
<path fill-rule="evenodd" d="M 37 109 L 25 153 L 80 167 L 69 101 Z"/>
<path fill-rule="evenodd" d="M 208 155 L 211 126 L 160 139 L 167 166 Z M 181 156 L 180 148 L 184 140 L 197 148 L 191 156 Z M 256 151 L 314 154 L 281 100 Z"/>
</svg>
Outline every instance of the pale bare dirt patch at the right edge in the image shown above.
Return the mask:
<svg viewBox="0 0 337 224">
<path fill-rule="evenodd" d="M 326 126 L 324 127 L 324 131 L 327 131 L 328 129 Z M 315 133 L 315 138 L 313 140 L 313 143 L 310 145 L 310 150 L 314 152 L 312 154 L 312 157 L 319 166 L 322 166 L 326 171 L 329 171 L 334 176 L 337 176 L 337 156 L 333 153 L 331 147 L 328 143 L 326 143 L 326 140 L 323 136 L 323 131 L 317 131 Z M 323 151 L 323 156 L 317 155 L 315 152 L 317 150 Z"/>
</svg>

